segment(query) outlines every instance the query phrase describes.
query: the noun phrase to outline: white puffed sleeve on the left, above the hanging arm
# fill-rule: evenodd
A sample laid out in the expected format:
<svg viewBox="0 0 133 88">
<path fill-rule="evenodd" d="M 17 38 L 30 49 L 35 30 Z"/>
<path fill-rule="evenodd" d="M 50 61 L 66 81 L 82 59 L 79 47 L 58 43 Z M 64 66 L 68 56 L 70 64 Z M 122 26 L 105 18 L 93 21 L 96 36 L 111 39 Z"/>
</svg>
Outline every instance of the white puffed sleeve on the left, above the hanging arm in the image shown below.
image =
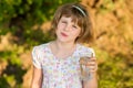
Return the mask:
<svg viewBox="0 0 133 88">
<path fill-rule="evenodd" d="M 33 63 L 33 66 L 41 69 L 41 62 L 38 53 L 39 53 L 38 46 L 34 46 L 32 50 L 32 63 Z"/>
</svg>

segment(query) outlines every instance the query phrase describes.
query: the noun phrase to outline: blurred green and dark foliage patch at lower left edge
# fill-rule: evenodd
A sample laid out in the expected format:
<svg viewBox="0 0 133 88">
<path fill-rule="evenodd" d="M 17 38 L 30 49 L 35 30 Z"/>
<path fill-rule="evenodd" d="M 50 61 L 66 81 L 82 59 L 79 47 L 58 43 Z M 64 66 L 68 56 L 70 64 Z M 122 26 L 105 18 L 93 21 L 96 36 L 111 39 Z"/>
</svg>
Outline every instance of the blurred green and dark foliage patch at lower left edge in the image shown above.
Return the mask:
<svg viewBox="0 0 133 88">
<path fill-rule="evenodd" d="M 19 54 L 23 53 L 22 47 L 14 46 L 12 51 L 0 52 L 0 63 L 7 62 L 4 70 L 0 77 L 0 88 L 20 88 L 22 85 L 22 76 L 27 69 L 22 68 Z"/>
</svg>

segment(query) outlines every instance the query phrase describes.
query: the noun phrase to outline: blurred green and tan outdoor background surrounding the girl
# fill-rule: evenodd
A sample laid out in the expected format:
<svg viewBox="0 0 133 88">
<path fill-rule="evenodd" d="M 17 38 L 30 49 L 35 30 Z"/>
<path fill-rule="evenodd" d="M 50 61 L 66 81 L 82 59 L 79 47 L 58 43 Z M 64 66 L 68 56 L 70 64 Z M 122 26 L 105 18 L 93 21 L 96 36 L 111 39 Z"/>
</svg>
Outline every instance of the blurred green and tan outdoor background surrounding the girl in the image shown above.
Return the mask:
<svg viewBox="0 0 133 88">
<path fill-rule="evenodd" d="M 29 88 L 31 51 L 47 43 L 57 8 L 79 0 L 0 0 L 0 88 Z M 81 0 L 95 31 L 99 88 L 133 88 L 133 0 Z"/>
</svg>

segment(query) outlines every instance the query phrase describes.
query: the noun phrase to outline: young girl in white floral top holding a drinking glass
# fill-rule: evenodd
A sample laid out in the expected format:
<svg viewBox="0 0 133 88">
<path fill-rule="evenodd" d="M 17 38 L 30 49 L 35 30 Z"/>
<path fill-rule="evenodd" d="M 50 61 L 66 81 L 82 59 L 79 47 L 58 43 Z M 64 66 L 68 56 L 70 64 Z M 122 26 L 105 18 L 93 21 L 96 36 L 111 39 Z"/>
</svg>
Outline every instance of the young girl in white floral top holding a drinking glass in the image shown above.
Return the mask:
<svg viewBox="0 0 133 88">
<path fill-rule="evenodd" d="M 52 28 L 57 38 L 33 47 L 31 88 L 96 88 L 95 57 L 84 63 L 92 77 L 83 82 L 80 79 L 80 57 L 94 55 L 92 48 L 83 45 L 93 37 L 85 7 L 80 3 L 61 6 L 53 16 Z"/>
</svg>

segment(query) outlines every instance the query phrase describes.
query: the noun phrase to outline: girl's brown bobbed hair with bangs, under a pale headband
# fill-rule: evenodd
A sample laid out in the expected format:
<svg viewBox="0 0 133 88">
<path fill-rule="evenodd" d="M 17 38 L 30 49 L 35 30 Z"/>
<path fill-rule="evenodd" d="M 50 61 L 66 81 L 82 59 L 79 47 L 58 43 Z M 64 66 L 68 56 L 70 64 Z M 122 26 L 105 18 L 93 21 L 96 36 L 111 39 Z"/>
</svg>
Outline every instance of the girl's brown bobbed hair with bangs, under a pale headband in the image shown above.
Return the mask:
<svg viewBox="0 0 133 88">
<path fill-rule="evenodd" d="M 81 34 L 75 40 L 76 42 L 89 43 L 93 41 L 94 34 L 92 30 L 91 19 L 90 19 L 86 8 L 83 4 L 66 3 L 66 4 L 59 7 L 59 9 L 54 13 L 53 21 L 52 21 L 52 29 L 54 31 L 62 15 L 71 16 L 73 21 L 78 22 L 78 25 L 81 28 Z"/>
</svg>

